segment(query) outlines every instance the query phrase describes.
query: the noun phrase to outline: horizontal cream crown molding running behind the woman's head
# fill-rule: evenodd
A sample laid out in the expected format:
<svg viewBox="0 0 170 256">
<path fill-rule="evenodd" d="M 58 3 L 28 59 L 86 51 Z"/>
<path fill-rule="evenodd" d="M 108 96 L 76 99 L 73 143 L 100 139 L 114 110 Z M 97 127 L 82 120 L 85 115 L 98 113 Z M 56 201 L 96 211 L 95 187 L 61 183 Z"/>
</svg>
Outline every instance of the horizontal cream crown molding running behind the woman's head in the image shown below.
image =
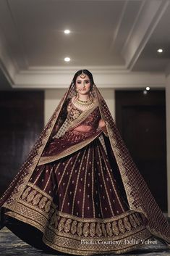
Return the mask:
<svg viewBox="0 0 170 256">
<path fill-rule="evenodd" d="M 79 67 L 80 69 L 80 67 Z M 144 73 L 130 72 L 122 70 L 122 72 L 111 71 L 109 67 L 91 67 L 88 69 L 93 73 L 95 83 L 101 88 L 126 88 L 153 86 L 164 87 L 164 73 Z M 39 71 L 22 71 L 15 76 L 13 88 L 68 88 L 72 81 L 73 75 L 77 71 L 77 67 L 70 69 L 61 69 L 57 71 L 44 72 Z"/>
</svg>

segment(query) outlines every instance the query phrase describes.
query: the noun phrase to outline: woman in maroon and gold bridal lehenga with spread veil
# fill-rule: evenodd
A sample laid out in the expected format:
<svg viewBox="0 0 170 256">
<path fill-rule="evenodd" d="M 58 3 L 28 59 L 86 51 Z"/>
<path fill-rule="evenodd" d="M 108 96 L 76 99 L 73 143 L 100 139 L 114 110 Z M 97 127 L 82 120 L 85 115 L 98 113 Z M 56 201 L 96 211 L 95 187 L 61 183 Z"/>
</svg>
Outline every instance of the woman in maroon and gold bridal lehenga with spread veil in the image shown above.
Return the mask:
<svg viewBox="0 0 170 256">
<path fill-rule="evenodd" d="M 39 249 L 120 254 L 170 227 L 88 70 L 72 84 L 1 197 L 1 226 Z"/>
</svg>

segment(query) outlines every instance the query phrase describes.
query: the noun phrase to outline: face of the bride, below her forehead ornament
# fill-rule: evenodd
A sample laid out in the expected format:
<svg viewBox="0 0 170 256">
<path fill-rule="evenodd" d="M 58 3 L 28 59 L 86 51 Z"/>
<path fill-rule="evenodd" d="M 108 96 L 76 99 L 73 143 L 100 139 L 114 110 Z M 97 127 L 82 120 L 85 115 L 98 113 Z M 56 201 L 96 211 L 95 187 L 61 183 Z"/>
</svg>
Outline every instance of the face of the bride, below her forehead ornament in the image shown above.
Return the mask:
<svg viewBox="0 0 170 256">
<path fill-rule="evenodd" d="M 90 93 L 90 79 L 88 75 L 85 75 L 85 78 L 80 78 L 80 75 L 77 76 L 75 88 L 78 94 L 89 94 Z"/>
</svg>

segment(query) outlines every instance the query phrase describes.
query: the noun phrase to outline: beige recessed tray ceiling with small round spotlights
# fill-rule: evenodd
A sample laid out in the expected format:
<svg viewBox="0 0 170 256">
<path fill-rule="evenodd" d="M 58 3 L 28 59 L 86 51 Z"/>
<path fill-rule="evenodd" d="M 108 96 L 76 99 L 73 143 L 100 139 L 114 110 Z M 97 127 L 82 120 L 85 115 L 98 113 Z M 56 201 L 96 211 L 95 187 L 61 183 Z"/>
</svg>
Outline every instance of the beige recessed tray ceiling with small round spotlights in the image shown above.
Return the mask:
<svg viewBox="0 0 170 256">
<path fill-rule="evenodd" d="M 64 75 L 69 81 L 81 68 L 103 75 L 166 73 L 169 30 L 165 0 L 1 0 L 1 85 L 64 86 Z"/>
</svg>

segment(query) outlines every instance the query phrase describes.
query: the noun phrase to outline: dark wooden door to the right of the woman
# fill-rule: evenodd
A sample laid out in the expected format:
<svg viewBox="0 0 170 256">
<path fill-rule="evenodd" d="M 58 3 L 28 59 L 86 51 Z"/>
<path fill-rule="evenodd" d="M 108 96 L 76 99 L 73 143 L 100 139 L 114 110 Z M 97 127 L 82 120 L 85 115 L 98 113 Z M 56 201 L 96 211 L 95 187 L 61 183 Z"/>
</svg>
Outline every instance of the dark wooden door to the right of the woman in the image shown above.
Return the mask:
<svg viewBox="0 0 170 256">
<path fill-rule="evenodd" d="M 165 91 L 116 91 L 116 125 L 158 205 L 166 212 Z"/>
</svg>

